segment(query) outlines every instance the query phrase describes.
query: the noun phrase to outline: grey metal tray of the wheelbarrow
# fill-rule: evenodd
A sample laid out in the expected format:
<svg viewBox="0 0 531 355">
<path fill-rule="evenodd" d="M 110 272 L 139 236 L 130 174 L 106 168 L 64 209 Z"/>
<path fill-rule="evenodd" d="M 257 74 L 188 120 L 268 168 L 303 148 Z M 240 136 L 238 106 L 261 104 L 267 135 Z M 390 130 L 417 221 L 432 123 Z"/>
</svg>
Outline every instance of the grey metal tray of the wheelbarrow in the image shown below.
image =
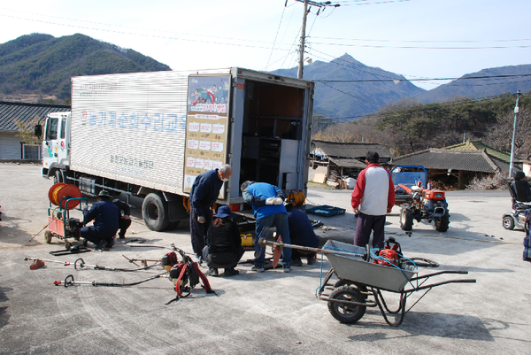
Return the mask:
<svg viewBox="0 0 531 355">
<path fill-rule="evenodd" d="M 417 268 L 414 266 L 411 270 L 404 270 L 395 266 L 365 261 L 360 256 L 366 254 L 366 249 L 356 245 L 329 240 L 322 249 L 327 251 L 325 255 L 334 268 L 335 275 L 342 280 L 363 283 L 377 289 L 401 292 L 405 284 L 415 274 L 418 274 Z M 352 256 L 335 254 L 330 250 L 352 251 Z"/>
</svg>

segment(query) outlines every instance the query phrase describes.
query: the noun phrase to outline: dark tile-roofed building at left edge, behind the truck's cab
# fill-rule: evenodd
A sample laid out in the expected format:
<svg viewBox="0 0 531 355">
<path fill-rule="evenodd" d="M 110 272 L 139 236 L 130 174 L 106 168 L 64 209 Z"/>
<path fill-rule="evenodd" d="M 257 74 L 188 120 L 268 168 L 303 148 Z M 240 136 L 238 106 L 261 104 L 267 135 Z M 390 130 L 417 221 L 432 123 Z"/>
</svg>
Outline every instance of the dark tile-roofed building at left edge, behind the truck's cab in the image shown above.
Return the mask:
<svg viewBox="0 0 531 355">
<path fill-rule="evenodd" d="M 67 112 L 65 104 L 27 104 L 0 101 L 0 159 L 41 159 L 41 147 L 29 145 L 17 137 L 20 121 L 30 125 L 32 120 L 43 120 L 50 112 Z M 32 128 L 33 129 L 33 128 Z"/>
</svg>

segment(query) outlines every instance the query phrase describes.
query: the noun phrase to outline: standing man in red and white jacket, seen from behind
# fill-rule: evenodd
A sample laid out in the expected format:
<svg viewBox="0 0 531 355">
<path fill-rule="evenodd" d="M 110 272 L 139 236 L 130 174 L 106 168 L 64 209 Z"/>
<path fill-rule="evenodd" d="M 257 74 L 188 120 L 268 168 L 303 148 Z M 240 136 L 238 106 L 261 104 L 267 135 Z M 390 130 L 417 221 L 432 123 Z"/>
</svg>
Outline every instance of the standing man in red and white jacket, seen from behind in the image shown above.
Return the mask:
<svg viewBox="0 0 531 355">
<path fill-rule="evenodd" d="M 385 214 L 395 205 L 395 185 L 389 171 L 380 166 L 377 152 L 367 152 L 366 165 L 352 192 L 351 205 L 358 214 L 354 244 L 365 247 L 373 231 L 373 247 L 381 248 Z"/>
</svg>

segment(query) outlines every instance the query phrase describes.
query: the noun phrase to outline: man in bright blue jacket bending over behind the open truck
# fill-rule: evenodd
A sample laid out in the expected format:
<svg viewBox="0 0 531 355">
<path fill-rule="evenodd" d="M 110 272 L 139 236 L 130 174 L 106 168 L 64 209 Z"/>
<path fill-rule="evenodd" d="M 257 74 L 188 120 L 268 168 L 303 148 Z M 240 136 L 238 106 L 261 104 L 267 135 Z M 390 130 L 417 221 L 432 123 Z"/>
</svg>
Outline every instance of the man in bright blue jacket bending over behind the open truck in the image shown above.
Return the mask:
<svg viewBox="0 0 531 355">
<path fill-rule="evenodd" d="M 262 235 L 265 228 L 276 227 L 277 235 L 281 236 L 282 243 L 289 244 L 288 212 L 286 212 L 286 207 L 282 204 L 286 198 L 286 193 L 269 183 L 255 181 L 243 182 L 240 189 L 242 190 L 243 199 L 254 210 L 254 216 L 257 219 L 257 238 Z M 258 243 L 256 243 L 255 248 L 256 251 L 261 249 Z M 255 259 L 253 270 L 258 271 L 258 273 L 266 271 L 264 268 L 264 264 L 266 264 L 265 252 L 263 250 L 260 256 Z M 284 273 L 291 271 L 290 248 L 282 249 L 282 266 Z"/>
</svg>

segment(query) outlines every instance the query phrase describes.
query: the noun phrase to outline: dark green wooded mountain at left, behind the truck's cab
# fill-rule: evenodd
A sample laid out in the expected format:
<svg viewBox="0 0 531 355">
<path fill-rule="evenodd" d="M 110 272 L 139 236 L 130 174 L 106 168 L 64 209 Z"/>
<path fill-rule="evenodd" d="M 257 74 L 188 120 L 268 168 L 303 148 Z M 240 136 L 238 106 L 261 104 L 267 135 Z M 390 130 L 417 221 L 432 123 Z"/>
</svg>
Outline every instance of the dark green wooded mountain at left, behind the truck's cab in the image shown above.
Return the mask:
<svg viewBox="0 0 531 355">
<path fill-rule="evenodd" d="M 76 75 L 170 70 L 135 50 L 96 41 L 87 35 L 23 35 L 0 44 L 0 92 L 70 97 Z"/>
</svg>

